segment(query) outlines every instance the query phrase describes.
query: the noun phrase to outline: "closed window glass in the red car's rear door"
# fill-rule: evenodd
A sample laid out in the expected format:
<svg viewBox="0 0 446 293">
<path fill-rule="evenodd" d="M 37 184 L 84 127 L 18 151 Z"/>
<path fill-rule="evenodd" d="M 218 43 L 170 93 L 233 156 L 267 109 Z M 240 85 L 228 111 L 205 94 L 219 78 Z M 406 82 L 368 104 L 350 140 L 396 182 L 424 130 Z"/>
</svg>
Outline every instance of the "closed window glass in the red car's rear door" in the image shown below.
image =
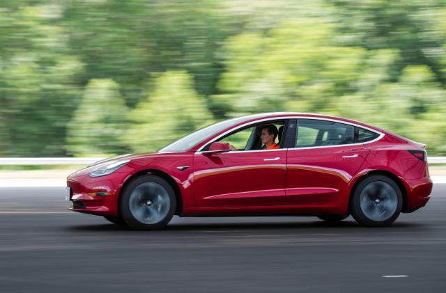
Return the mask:
<svg viewBox="0 0 446 293">
<path fill-rule="evenodd" d="M 306 148 L 353 143 L 354 129 L 352 125 L 334 121 L 298 119 L 295 145 Z"/>
</svg>

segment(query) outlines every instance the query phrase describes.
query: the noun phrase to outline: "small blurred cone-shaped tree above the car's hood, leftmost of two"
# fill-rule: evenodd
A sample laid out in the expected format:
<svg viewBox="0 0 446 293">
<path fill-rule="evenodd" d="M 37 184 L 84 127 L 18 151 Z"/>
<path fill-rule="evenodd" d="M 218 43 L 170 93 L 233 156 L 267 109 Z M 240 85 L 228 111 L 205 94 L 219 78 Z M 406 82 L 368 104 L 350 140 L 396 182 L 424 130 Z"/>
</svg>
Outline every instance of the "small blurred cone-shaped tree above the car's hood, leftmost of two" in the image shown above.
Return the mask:
<svg viewBox="0 0 446 293">
<path fill-rule="evenodd" d="M 66 148 L 71 155 L 116 155 L 127 151 L 119 138 L 127 128 L 127 106 L 111 79 L 93 79 L 68 124 Z"/>
</svg>

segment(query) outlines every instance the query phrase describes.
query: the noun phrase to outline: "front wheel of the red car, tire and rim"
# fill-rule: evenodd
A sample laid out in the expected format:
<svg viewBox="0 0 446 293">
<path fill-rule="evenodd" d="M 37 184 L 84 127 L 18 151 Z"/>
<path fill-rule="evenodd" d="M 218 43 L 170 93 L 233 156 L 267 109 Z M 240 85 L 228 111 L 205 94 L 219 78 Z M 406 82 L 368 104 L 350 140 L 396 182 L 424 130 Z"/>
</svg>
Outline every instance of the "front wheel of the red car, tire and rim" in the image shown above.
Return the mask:
<svg viewBox="0 0 446 293">
<path fill-rule="evenodd" d="M 137 230 L 163 228 L 174 216 L 176 198 L 170 184 L 155 175 L 142 175 L 132 180 L 120 197 L 125 223 Z"/>
</svg>

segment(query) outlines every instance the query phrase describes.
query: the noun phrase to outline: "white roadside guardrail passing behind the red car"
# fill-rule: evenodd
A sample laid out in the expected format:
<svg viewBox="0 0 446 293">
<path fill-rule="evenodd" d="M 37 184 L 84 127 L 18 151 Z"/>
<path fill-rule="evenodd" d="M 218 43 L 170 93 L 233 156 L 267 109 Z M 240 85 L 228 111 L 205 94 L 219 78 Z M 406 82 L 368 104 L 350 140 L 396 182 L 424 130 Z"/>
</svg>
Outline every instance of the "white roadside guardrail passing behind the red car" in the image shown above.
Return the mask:
<svg viewBox="0 0 446 293">
<path fill-rule="evenodd" d="M 1 165 L 89 165 L 100 161 L 102 157 L 86 158 L 0 158 Z M 446 164 L 446 157 L 428 157 L 429 164 Z"/>
</svg>

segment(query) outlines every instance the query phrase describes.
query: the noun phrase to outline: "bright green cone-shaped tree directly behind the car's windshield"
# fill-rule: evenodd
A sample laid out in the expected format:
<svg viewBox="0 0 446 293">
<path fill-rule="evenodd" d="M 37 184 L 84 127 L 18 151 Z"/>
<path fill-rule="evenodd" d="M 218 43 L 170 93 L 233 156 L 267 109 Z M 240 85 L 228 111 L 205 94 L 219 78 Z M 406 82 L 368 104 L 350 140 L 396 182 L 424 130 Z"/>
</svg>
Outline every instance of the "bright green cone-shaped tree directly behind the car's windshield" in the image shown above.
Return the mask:
<svg viewBox="0 0 446 293">
<path fill-rule="evenodd" d="M 212 122 L 206 100 L 197 95 L 187 72 L 164 72 L 155 79 L 153 88 L 128 116 L 132 125 L 123 142 L 134 152 L 158 150 Z"/>
</svg>

